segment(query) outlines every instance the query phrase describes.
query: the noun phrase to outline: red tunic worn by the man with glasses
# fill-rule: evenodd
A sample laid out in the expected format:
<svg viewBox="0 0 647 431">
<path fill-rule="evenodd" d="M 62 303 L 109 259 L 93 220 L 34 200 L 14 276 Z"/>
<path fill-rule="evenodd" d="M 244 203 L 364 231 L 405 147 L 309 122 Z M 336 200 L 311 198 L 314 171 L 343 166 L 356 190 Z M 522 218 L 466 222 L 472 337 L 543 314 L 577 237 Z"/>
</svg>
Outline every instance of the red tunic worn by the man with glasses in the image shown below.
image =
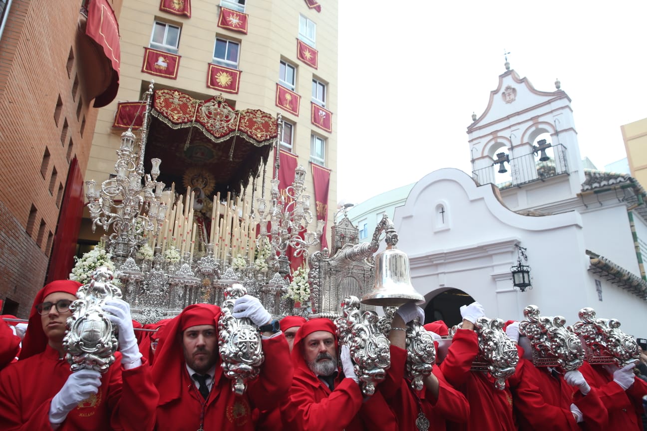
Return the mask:
<svg viewBox="0 0 647 431">
<path fill-rule="evenodd" d="M 45 352 L 11 364 L 0 373 L 0 429 L 49 430 L 49 408 L 54 395 L 71 374 L 49 346 Z M 151 368 L 143 364 L 123 370 L 121 353 L 102 376 L 99 392 L 76 406 L 58 430 L 152 430 L 159 395 Z"/>
</svg>

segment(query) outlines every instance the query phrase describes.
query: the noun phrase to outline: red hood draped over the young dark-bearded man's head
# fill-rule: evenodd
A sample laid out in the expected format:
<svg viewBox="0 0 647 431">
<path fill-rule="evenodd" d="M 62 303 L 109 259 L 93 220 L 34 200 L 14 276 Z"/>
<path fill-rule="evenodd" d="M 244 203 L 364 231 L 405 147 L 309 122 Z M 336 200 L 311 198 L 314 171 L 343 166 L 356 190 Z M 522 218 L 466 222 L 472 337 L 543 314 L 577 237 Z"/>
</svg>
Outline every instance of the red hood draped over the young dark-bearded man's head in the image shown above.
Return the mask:
<svg viewBox="0 0 647 431">
<path fill-rule="evenodd" d="M 153 383 L 160 393 L 160 405 L 179 399 L 182 394 L 182 373 L 186 373 L 182 332 L 186 328 L 202 324 L 214 325 L 217 329 L 220 315 L 219 306 L 193 304 L 157 332 L 159 339 L 152 373 Z M 217 350 L 215 355 L 218 355 Z M 215 370 L 216 373 L 222 372 L 220 366 L 216 366 Z"/>
</svg>

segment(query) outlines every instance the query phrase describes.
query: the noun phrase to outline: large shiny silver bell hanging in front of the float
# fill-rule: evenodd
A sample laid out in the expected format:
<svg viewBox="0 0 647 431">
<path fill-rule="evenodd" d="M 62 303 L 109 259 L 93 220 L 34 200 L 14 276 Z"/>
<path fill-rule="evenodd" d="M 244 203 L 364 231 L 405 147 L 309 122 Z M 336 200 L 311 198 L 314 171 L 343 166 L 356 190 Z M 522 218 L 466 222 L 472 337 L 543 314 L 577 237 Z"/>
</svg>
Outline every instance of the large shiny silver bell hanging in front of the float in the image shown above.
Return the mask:
<svg viewBox="0 0 647 431">
<path fill-rule="evenodd" d="M 375 257 L 373 291 L 362 297 L 362 304 L 388 307 L 406 302 L 424 304 L 424 297 L 411 285 L 409 257 L 398 249 L 386 249 Z"/>
</svg>

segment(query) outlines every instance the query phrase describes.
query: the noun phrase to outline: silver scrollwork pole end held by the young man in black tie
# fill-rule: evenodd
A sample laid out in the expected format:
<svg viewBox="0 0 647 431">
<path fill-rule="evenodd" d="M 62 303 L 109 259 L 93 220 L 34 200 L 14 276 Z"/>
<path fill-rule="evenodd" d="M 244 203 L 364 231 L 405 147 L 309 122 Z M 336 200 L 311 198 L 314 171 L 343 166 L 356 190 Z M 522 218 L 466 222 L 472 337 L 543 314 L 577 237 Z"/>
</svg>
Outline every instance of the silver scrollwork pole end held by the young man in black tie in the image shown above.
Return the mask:
<svg viewBox="0 0 647 431">
<path fill-rule="evenodd" d="M 242 284 L 226 289 L 226 299 L 218 321 L 218 350 L 226 377 L 232 379 L 232 391 L 243 395 L 247 382 L 256 379 L 265 361 L 258 328 L 247 318 L 236 319 L 232 313 L 234 302 L 247 294 Z"/>
</svg>

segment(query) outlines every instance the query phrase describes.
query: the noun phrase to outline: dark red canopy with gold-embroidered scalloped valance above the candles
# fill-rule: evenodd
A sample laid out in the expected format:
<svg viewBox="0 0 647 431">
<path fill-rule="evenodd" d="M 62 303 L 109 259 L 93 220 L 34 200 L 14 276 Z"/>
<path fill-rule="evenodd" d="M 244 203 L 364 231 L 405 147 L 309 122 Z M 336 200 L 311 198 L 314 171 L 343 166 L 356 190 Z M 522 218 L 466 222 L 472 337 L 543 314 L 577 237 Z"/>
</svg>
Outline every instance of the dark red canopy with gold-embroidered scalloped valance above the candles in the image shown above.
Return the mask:
<svg viewBox="0 0 647 431">
<path fill-rule="evenodd" d="M 181 178 L 188 167 L 202 167 L 216 190 L 246 187 L 267 163 L 277 137 L 277 120 L 258 109 L 234 110 L 223 96 L 197 100 L 178 90 L 153 94 L 146 160 L 162 159 L 160 178 Z"/>
</svg>

